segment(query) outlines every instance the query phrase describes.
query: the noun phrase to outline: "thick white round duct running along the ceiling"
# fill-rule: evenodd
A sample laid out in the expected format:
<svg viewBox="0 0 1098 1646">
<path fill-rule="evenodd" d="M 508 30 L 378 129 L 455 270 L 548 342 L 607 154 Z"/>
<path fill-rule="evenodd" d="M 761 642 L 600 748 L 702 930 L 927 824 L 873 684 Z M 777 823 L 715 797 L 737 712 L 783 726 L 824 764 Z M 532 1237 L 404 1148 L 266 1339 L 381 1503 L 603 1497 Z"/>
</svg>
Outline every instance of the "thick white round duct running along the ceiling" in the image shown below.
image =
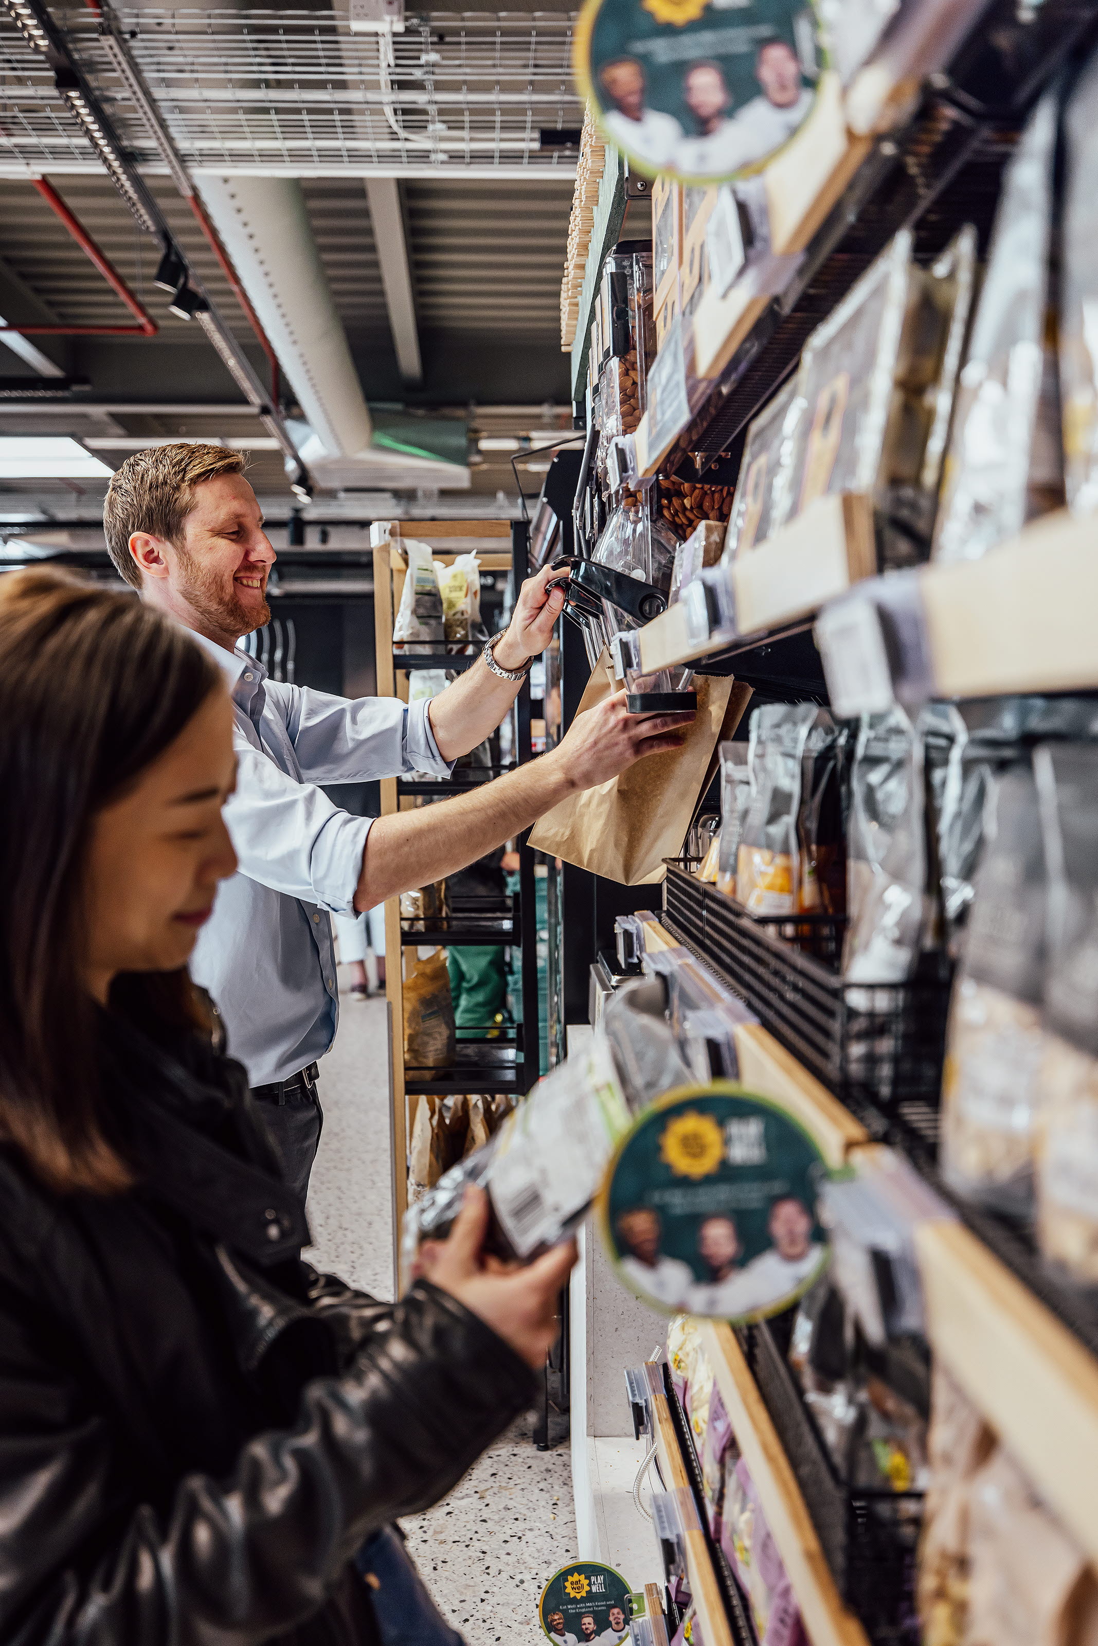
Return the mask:
<svg viewBox="0 0 1098 1646">
<path fill-rule="evenodd" d="M 278 364 L 313 431 L 301 461 L 321 486 L 466 489 L 464 464 L 374 448 L 370 413 L 295 178 L 198 181 Z"/>
</svg>

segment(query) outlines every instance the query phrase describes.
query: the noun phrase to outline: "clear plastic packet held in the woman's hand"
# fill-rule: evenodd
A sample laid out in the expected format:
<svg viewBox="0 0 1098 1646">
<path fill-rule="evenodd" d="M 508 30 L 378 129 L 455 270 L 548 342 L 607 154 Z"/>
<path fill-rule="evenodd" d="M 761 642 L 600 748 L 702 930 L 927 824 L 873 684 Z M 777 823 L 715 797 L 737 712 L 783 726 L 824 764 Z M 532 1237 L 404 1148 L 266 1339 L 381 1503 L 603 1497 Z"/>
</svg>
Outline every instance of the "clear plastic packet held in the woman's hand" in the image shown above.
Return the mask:
<svg viewBox="0 0 1098 1646">
<path fill-rule="evenodd" d="M 583 1052 L 550 1070 L 482 1149 L 454 1165 L 415 1207 L 402 1231 L 402 1276 L 416 1276 L 425 1239 L 444 1239 L 466 1185 L 491 1202 L 489 1246 L 532 1259 L 583 1220 L 630 1114 L 690 1070 L 657 1004 L 658 979 L 622 984 Z"/>
</svg>

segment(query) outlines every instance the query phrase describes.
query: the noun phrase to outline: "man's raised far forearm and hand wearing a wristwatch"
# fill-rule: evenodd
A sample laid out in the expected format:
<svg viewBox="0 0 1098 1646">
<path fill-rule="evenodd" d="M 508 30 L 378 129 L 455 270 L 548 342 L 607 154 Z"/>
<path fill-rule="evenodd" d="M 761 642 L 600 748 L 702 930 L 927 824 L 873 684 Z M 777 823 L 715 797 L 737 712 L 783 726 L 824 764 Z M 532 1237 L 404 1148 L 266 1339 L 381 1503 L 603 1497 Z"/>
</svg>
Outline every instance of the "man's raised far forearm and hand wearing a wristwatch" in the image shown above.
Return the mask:
<svg viewBox="0 0 1098 1646">
<path fill-rule="evenodd" d="M 507 632 L 492 653 L 500 668 L 523 668 L 553 639 L 553 624 L 565 596 L 558 588 L 547 589 L 551 574 L 550 566 L 545 566 L 522 584 Z M 440 657 L 440 668 L 444 667 L 444 658 Z M 520 688 L 520 680 L 500 680 L 484 658 L 477 658 L 472 668 L 431 698 L 428 714 L 441 757 L 456 760 L 484 742 L 504 719 Z"/>
</svg>

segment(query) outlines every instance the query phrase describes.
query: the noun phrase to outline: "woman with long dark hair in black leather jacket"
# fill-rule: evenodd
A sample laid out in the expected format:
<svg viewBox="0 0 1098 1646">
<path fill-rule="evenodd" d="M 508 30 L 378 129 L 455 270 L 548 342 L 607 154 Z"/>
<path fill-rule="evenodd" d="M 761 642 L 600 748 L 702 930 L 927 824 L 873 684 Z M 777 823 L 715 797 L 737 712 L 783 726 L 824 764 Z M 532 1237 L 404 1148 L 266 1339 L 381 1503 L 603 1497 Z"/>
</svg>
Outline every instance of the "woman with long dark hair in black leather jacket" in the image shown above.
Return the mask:
<svg viewBox="0 0 1098 1646">
<path fill-rule="evenodd" d="M 379 1639 L 356 1554 L 528 1404 L 575 1256 L 484 1262 L 474 1198 L 398 1304 L 301 1262 L 186 973 L 232 782 L 183 630 L 0 578 L 5 1646 Z"/>
</svg>

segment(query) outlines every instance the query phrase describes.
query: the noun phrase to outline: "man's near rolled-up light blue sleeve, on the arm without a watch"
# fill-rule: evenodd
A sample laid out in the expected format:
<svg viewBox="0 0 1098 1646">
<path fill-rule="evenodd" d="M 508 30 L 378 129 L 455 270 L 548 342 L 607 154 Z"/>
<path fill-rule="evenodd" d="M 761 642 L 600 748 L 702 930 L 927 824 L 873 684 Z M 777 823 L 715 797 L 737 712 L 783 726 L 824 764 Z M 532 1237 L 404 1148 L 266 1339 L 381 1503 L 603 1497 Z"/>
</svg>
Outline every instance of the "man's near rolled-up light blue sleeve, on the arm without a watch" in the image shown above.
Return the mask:
<svg viewBox="0 0 1098 1646">
<path fill-rule="evenodd" d="M 237 731 L 237 787 L 226 825 L 240 872 L 275 892 L 354 914 L 372 818 L 341 811 L 313 783 L 298 783 Z"/>
</svg>

